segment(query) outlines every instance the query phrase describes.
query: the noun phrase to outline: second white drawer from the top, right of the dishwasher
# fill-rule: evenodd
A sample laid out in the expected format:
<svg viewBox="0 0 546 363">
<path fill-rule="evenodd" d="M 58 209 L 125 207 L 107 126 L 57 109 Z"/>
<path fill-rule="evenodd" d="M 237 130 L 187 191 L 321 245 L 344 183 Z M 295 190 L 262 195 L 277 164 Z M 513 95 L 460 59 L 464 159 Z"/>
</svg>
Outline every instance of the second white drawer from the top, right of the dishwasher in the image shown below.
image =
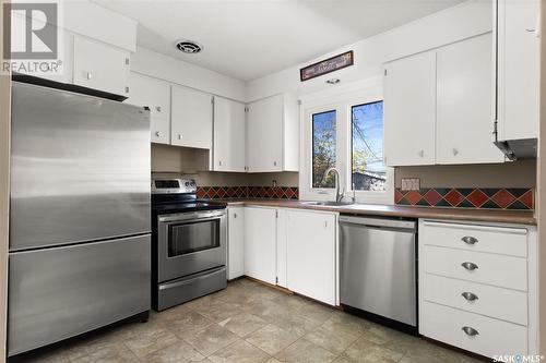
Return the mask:
<svg viewBox="0 0 546 363">
<path fill-rule="evenodd" d="M 527 290 L 527 261 L 496 254 L 424 246 L 425 273 L 494 285 L 502 288 Z M 467 268 L 463 266 L 466 264 Z"/>
</svg>

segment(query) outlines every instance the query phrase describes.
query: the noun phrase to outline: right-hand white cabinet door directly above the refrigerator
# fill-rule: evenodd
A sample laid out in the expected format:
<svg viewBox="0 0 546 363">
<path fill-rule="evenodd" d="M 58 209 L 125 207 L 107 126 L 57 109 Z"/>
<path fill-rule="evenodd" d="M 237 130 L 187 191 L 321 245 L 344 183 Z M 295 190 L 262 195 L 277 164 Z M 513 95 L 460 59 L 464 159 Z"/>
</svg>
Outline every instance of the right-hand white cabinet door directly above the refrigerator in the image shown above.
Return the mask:
<svg viewBox="0 0 546 363">
<path fill-rule="evenodd" d="M 129 52 L 74 36 L 74 84 L 129 96 Z"/>
</svg>

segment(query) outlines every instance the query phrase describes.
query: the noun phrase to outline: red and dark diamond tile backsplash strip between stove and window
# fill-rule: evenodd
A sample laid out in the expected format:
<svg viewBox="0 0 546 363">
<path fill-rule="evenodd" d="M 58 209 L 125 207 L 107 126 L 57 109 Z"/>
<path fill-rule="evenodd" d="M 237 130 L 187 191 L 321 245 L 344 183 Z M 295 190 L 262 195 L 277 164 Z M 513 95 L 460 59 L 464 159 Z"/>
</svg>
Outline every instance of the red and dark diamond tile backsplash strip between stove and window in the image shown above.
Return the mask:
<svg viewBox="0 0 546 363">
<path fill-rule="evenodd" d="M 297 199 L 297 186 L 199 186 L 198 198 Z"/>
</svg>

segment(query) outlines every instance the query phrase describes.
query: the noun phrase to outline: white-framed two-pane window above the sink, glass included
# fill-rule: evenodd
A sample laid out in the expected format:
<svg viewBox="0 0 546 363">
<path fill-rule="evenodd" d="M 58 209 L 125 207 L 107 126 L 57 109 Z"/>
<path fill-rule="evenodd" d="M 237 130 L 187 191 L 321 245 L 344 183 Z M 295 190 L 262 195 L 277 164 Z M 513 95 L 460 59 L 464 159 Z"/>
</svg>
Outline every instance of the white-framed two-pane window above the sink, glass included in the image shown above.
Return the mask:
<svg viewBox="0 0 546 363">
<path fill-rule="evenodd" d="M 335 167 L 344 201 L 394 203 L 394 169 L 383 162 L 382 75 L 302 95 L 300 112 L 301 199 L 334 201 L 335 173 L 323 179 Z"/>
</svg>

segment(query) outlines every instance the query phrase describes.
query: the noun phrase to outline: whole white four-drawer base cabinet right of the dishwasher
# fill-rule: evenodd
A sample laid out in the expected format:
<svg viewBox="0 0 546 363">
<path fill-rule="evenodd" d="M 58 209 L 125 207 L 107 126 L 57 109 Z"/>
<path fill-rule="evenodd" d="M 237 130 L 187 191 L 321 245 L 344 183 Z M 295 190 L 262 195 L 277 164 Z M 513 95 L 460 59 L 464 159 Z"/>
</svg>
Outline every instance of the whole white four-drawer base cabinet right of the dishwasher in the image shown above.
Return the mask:
<svg viewBox="0 0 546 363">
<path fill-rule="evenodd" d="M 536 354 L 536 228 L 419 221 L 422 335 L 488 358 Z"/>
</svg>

